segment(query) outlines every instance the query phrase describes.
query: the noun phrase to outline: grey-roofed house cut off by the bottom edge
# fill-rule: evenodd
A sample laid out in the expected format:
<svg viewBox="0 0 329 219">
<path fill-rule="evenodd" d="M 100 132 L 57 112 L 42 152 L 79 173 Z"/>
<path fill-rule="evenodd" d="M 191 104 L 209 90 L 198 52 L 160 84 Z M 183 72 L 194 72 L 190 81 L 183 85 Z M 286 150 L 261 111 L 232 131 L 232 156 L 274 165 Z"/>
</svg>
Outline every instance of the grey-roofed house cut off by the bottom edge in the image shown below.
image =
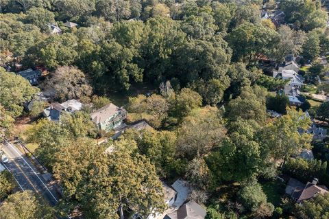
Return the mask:
<svg viewBox="0 0 329 219">
<path fill-rule="evenodd" d="M 194 200 L 190 200 L 184 204 L 177 211 L 173 211 L 170 214 L 164 216 L 164 219 L 204 219 L 207 211 L 201 205 L 195 203 Z"/>
</svg>

